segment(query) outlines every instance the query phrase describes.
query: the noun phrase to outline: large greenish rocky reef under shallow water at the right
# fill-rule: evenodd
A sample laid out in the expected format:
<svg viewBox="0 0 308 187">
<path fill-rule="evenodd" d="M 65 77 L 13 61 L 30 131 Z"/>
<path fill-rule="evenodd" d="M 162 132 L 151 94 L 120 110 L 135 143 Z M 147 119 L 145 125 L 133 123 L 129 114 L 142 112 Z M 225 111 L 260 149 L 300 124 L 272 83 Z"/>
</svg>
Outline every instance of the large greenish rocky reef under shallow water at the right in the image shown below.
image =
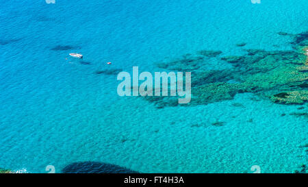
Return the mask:
<svg viewBox="0 0 308 187">
<path fill-rule="evenodd" d="M 253 92 L 274 103 L 302 105 L 308 101 L 308 32 L 278 34 L 290 37 L 293 50 L 243 49 L 244 55 L 227 56 L 222 51 L 203 50 L 170 62 L 159 62 L 157 67 L 192 72 L 192 100 L 186 106 L 231 100 L 237 93 L 244 92 Z M 210 58 L 230 64 L 232 68 L 205 70 Z M 175 97 L 144 98 L 157 108 L 178 105 Z"/>
</svg>

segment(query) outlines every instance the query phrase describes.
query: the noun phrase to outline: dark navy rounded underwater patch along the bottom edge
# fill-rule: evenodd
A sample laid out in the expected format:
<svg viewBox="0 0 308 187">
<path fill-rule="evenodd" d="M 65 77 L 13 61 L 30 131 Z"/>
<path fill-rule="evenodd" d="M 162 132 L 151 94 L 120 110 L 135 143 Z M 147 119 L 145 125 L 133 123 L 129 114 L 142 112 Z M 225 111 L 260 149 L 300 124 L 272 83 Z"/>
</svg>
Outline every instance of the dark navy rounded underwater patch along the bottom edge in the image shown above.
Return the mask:
<svg viewBox="0 0 308 187">
<path fill-rule="evenodd" d="M 62 173 L 139 173 L 122 166 L 102 162 L 74 162 L 65 166 Z"/>
</svg>

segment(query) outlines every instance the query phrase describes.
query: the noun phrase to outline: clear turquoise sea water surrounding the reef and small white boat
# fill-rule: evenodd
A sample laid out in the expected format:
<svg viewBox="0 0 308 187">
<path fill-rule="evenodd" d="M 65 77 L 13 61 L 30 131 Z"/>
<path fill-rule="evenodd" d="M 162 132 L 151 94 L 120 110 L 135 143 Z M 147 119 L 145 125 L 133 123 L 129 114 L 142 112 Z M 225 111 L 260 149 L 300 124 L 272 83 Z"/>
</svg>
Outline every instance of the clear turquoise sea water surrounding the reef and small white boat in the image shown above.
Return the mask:
<svg viewBox="0 0 308 187">
<path fill-rule="evenodd" d="M 119 97 L 116 76 L 95 73 L 110 68 L 106 62 L 162 71 L 155 63 L 203 49 L 242 54 L 240 42 L 291 49 L 277 32 L 307 31 L 307 0 L 0 3 L 0 168 L 47 173 L 53 165 L 60 173 L 70 163 L 95 161 L 142 173 L 251 173 L 253 165 L 292 173 L 307 163 L 299 147 L 307 143 L 307 118 L 281 117 L 298 105 L 244 93 L 157 109 L 140 97 Z M 75 49 L 52 50 L 58 45 Z M 226 124 L 211 125 L 216 121 Z"/>
</svg>

